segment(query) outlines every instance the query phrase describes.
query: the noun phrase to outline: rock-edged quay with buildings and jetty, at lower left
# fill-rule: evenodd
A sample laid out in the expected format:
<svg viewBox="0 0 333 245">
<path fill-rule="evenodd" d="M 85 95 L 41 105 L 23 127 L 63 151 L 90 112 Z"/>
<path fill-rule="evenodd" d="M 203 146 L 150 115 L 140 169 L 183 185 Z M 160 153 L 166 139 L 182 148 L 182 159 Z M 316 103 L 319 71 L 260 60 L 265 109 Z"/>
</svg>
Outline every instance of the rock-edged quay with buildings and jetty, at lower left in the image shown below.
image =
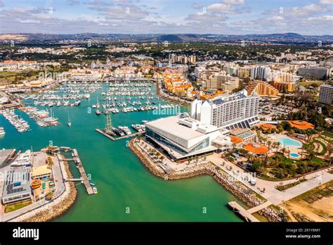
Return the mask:
<svg viewBox="0 0 333 245">
<path fill-rule="evenodd" d="M 66 152 L 72 152 L 72 158 L 65 158 Z M 5 177 L 0 182 L 2 221 L 20 219 L 24 215 L 28 217 L 25 220 L 48 220 L 63 213 L 72 206 L 77 195 L 74 182 L 82 182 L 88 194 L 97 193 L 76 149 L 48 146 L 41 151 L 15 154 L 15 149 L 11 149 L 2 153 L 6 153 L 8 159 L 0 168 L 0 175 Z M 70 161 L 77 164 L 81 177 L 72 177 Z"/>
</svg>

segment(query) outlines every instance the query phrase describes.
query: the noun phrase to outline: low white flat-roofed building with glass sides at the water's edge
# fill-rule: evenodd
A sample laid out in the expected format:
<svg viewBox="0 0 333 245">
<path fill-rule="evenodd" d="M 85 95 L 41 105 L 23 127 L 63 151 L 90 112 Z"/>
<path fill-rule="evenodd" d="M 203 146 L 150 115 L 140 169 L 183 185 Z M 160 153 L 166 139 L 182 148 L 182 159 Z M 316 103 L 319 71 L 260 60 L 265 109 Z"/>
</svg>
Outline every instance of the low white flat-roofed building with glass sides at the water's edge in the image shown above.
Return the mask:
<svg viewBox="0 0 333 245">
<path fill-rule="evenodd" d="M 162 147 L 171 158 L 180 160 L 216 149 L 230 149 L 229 130 L 204 125 L 182 115 L 159 118 L 145 123 L 145 136 Z"/>
</svg>

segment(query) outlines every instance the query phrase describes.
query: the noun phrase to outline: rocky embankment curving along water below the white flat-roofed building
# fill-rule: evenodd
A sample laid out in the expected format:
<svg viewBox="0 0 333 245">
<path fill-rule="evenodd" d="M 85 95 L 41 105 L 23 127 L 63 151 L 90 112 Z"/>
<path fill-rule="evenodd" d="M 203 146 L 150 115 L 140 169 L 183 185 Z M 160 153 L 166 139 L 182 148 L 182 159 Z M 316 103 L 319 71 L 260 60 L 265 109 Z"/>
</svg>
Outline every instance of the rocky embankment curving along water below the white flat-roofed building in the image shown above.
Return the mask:
<svg viewBox="0 0 333 245">
<path fill-rule="evenodd" d="M 221 168 L 216 167 L 216 165 L 210 162 L 195 165 L 191 168 L 166 175 L 162 168 L 153 163 L 150 158 L 147 158 L 145 154 L 141 152 L 141 150 L 136 148 L 135 140 L 136 138 L 130 140 L 129 148 L 141 160 L 141 163 L 145 165 L 145 168 L 147 168 L 149 172 L 157 177 L 160 177 L 164 180 L 183 180 L 200 175 L 210 175 L 216 182 L 218 182 L 218 184 L 221 184 L 227 191 L 242 201 L 242 203 L 245 204 L 247 208 L 253 208 L 266 202 L 266 199 L 264 199 L 262 196 L 259 197 L 259 195 L 252 191 L 252 189 L 244 186 L 244 184 L 235 180 L 233 176 L 229 175 L 227 172 L 223 171 Z M 267 207 L 258 213 L 267 218 L 269 221 L 280 221 L 278 213 L 273 208 Z"/>
</svg>

